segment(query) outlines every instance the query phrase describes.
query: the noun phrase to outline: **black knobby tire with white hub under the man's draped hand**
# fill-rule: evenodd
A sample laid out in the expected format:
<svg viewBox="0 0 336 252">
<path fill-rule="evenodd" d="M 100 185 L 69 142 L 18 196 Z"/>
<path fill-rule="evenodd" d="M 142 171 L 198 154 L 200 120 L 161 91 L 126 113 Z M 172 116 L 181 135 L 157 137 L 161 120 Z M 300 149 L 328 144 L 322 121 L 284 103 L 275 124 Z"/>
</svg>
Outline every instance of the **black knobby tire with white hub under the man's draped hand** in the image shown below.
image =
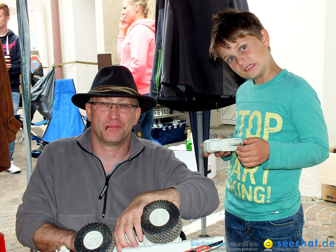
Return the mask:
<svg viewBox="0 0 336 252">
<path fill-rule="evenodd" d="M 154 244 L 175 241 L 182 231 L 182 219 L 176 205 L 156 200 L 143 209 L 141 227 L 145 237 Z"/>
</svg>

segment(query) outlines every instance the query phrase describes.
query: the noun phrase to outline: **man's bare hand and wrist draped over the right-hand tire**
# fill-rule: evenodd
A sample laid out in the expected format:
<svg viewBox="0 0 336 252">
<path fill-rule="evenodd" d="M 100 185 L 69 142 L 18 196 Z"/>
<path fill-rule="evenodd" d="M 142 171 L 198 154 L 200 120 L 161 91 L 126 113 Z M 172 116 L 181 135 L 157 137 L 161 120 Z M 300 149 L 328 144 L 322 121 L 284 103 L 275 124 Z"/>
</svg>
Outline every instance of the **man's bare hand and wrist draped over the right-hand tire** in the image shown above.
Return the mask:
<svg viewBox="0 0 336 252">
<path fill-rule="evenodd" d="M 179 207 L 180 203 L 179 195 L 175 188 L 144 192 L 136 196 L 117 219 L 116 227 L 113 233 L 118 252 L 120 252 L 122 248 L 130 246 L 136 247 L 139 245 L 135 239 L 133 227 L 135 228 L 138 240 L 142 242 L 143 233 L 141 228 L 141 216 L 143 208 L 155 200 L 167 200 L 173 202 L 177 207 Z M 125 234 L 127 235 L 128 241 L 131 245 L 127 243 Z"/>
</svg>

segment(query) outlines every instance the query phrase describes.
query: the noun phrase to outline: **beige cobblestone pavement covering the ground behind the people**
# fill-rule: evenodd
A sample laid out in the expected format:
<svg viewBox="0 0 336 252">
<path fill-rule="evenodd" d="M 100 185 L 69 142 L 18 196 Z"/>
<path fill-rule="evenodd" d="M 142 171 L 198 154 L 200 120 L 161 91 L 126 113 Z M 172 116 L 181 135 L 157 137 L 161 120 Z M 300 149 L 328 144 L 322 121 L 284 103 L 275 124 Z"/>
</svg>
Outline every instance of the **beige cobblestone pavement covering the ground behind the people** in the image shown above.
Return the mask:
<svg viewBox="0 0 336 252">
<path fill-rule="evenodd" d="M 20 111 L 18 112 L 20 113 Z M 21 112 L 22 113 L 22 112 Z M 41 118 L 34 117 L 34 121 L 39 121 Z M 42 135 L 42 130 L 39 128 L 33 129 L 35 133 Z M 210 136 L 213 133 L 229 135 L 234 131 L 232 125 L 222 125 L 212 128 L 210 130 Z M 20 133 L 18 133 L 20 136 Z M 178 145 L 183 142 L 174 143 L 170 145 Z M 167 145 L 169 146 L 169 145 Z M 36 149 L 37 145 L 32 142 L 32 149 Z M 15 214 L 17 207 L 22 203 L 22 195 L 27 185 L 27 173 L 26 173 L 26 154 L 25 143 L 15 143 L 14 162 L 21 168 L 22 172 L 18 174 L 10 174 L 9 172 L 0 173 L 0 232 L 5 235 L 5 245 L 7 252 L 26 252 L 30 251 L 28 248 L 23 247 L 16 239 L 15 236 Z M 33 167 L 36 164 L 36 159 L 32 159 Z M 207 234 L 210 237 L 224 236 L 225 223 L 224 219 L 218 220 L 218 214 L 221 214 L 224 210 L 224 196 L 225 196 L 225 180 L 227 178 L 227 162 L 223 162 L 220 159 L 216 159 L 217 175 L 213 178 L 213 181 L 217 187 L 220 205 L 218 209 L 206 218 Z M 314 241 L 317 239 L 318 245 L 328 240 L 328 244 L 331 241 L 336 243 L 336 203 L 328 202 L 321 199 L 302 198 L 302 205 L 305 215 L 305 224 L 303 228 L 303 240 Z M 217 215 L 216 215 L 217 214 Z M 216 219 L 214 219 L 216 216 Z M 183 226 L 190 226 L 194 220 L 183 220 Z M 214 222 L 214 223 L 212 223 Z M 201 234 L 201 226 L 199 225 L 188 232 L 187 238 L 199 239 Z M 266 238 L 265 238 L 266 239 Z M 312 248 L 301 248 L 300 250 L 307 250 Z M 318 248 L 314 248 L 318 249 Z M 330 246 L 329 246 L 330 249 Z M 331 249 L 329 251 L 336 251 Z"/>
</svg>

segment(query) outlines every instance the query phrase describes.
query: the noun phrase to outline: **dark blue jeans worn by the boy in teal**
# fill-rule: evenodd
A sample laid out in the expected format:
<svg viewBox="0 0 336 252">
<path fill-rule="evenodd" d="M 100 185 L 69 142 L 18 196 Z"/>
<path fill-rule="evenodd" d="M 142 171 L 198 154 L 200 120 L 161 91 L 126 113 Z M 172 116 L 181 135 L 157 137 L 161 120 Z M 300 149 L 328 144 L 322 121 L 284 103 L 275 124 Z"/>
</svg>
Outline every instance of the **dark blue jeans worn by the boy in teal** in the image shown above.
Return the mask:
<svg viewBox="0 0 336 252">
<path fill-rule="evenodd" d="M 257 247 L 258 251 L 265 251 L 264 241 L 269 239 L 273 243 L 269 248 L 272 251 L 277 251 L 278 248 L 299 251 L 295 243 L 298 241 L 297 244 L 301 245 L 303 223 L 302 205 L 296 214 L 271 221 L 245 221 L 225 211 L 225 243 L 230 250 L 247 251 L 247 248 Z M 290 241 L 293 243 L 289 243 Z"/>
</svg>

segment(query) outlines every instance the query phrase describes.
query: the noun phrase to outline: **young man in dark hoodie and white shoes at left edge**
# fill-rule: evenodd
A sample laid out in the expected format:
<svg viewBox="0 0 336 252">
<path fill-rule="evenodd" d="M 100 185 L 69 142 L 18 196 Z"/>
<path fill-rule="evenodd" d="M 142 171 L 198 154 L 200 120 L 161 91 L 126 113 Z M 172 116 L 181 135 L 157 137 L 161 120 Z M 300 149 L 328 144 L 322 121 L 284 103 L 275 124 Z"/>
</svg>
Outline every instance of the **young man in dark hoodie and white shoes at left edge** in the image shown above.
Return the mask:
<svg viewBox="0 0 336 252">
<path fill-rule="evenodd" d="M 13 33 L 12 30 L 7 29 L 7 23 L 9 21 L 9 8 L 5 3 L 0 3 L 0 37 L 3 52 L 7 63 L 7 70 L 10 80 L 10 86 L 12 89 L 12 98 L 14 105 L 14 114 L 16 114 L 19 108 L 20 101 L 20 74 L 21 74 L 21 58 L 19 37 Z M 6 56 L 9 56 L 6 58 Z M 10 173 L 21 172 L 13 161 L 13 153 L 15 148 L 15 141 L 9 143 L 9 153 L 11 160 L 11 167 L 7 170 Z"/>
</svg>

